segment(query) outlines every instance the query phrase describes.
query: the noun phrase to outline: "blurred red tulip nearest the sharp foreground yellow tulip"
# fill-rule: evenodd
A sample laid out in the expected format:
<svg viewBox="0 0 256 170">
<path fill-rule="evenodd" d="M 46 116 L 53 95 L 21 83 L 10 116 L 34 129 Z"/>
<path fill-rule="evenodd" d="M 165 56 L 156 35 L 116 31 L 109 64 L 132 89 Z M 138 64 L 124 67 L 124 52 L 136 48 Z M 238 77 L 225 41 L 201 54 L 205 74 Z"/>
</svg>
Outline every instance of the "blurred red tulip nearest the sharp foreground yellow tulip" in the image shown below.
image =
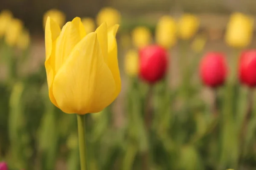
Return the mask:
<svg viewBox="0 0 256 170">
<path fill-rule="evenodd" d="M 140 50 L 140 77 L 148 83 L 161 80 L 167 71 L 167 51 L 159 45 L 149 45 Z"/>
</svg>

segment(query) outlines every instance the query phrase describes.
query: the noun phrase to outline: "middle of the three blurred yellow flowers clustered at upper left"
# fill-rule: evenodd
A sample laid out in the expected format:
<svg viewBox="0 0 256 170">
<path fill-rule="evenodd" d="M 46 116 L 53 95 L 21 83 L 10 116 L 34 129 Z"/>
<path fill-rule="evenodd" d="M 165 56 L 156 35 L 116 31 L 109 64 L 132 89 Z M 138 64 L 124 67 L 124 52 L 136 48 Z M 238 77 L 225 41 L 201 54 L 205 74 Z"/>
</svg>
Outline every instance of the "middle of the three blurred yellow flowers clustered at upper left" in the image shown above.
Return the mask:
<svg viewBox="0 0 256 170">
<path fill-rule="evenodd" d="M 10 46 L 15 46 L 17 44 L 18 38 L 22 33 L 23 23 L 19 19 L 12 19 L 8 24 L 8 29 L 6 29 L 5 40 Z"/>
</svg>

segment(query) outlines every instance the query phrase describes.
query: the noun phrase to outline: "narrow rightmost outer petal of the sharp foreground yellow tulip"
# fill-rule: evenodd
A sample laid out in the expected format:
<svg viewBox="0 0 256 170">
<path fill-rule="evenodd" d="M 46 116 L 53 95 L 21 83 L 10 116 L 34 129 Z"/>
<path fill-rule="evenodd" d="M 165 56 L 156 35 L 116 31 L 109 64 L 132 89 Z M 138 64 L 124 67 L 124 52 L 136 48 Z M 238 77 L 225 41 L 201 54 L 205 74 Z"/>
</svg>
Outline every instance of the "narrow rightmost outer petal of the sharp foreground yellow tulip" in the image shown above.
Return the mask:
<svg viewBox="0 0 256 170">
<path fill-rule="evenodd" d="M 111 70 L 113 78 L 116 84 L 116 90 L 113 94 L 112 100 L 116 99 L 121 91 L 121 78 L 118 67 L 117 59 L 117 44 L 116 44 L 116 32 L 119 25 L 116 24 L 108 29 L 108 67 Z"/>
</svg>

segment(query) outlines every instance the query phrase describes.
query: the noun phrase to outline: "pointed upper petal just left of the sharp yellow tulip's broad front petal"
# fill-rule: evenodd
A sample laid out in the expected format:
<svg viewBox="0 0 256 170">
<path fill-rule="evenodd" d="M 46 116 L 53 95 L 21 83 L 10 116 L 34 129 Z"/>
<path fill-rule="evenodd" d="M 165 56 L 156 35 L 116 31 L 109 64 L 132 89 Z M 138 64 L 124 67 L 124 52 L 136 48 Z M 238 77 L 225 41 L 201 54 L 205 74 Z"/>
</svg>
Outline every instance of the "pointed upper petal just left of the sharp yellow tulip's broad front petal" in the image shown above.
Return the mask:
<svg viewBox="0 0 256 170">
<path fill-rule="evenodd" d="M 66 61 L 67 57 L 74 46 L 81 40 L 79 30 L 72 22 L 67 22 L 56 42 L 55 56 L 55 72 L 57 73 L 61 65 Z"/>
</svg>

